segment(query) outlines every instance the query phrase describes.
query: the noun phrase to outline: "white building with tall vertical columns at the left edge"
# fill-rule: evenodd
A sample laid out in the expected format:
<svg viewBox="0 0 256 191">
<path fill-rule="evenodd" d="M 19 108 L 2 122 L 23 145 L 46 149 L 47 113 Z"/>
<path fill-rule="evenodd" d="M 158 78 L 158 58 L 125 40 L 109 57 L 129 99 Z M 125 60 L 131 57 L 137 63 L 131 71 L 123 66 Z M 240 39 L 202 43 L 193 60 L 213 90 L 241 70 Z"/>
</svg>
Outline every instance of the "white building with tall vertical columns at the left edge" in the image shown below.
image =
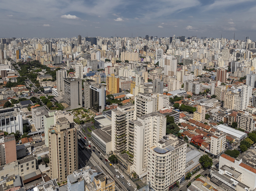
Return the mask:
<svg viewBox="0 0 256 191">
<path fill-rule="evenodd" d="M 22 113 L 20 109 L 0 109 L 0 130 L 9 134 L 20 131 L 20 134 L 23 134 Z"/>
</svg>

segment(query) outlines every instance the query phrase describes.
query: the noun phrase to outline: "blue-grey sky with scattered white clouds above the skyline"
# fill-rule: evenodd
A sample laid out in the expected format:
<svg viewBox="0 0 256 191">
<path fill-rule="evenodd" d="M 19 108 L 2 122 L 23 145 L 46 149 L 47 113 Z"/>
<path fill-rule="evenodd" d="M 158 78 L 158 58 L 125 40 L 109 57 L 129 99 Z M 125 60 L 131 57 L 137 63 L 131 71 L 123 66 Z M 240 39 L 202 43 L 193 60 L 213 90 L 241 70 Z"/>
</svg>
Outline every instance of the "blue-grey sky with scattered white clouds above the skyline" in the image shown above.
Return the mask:
<svg viewBox="0 0 256 191">
<path fill-rule="evenodd" d="M 145 35 L 256 40 L 256 0 L 1 0 L 0 38 Z"/>
</svg>

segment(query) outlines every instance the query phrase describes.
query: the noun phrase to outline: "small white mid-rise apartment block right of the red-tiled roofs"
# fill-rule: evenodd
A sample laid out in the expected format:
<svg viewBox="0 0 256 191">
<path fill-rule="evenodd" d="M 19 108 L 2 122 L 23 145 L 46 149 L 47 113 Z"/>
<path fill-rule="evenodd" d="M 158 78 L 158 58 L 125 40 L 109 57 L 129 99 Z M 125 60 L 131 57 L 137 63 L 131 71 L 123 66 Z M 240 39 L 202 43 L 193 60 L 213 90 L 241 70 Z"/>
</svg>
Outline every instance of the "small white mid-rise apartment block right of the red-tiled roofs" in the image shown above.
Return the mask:
<svg viewBox="0 0 256 191">
<path fill-rule="evenodd" d="M 225 151 L 226 147 L 226 133 L 218 131 L 216 132 L 215 135 L 211 136 L 210 152 L 214 156 L 220 156 L 220 154 L 222 154 Z"/>
</svg>

